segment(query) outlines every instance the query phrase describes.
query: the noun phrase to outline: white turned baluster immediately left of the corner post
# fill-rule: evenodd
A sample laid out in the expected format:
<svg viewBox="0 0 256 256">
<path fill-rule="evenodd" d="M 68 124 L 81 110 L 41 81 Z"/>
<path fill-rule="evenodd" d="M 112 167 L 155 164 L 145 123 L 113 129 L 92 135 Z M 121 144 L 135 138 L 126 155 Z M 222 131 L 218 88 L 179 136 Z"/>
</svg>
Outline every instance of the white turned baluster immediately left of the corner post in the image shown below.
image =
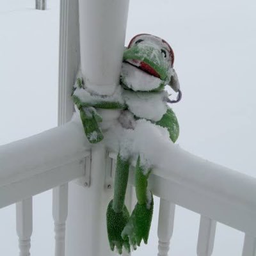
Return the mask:
<svg viewBox="0 0 256 256">
<path fill-rule="evenodd" d="M 55 232 L 55 256 L 65 255 L 65 230 L 68 214 L 68 184 L 52 189 L 52 216 Z"/>
</svg>

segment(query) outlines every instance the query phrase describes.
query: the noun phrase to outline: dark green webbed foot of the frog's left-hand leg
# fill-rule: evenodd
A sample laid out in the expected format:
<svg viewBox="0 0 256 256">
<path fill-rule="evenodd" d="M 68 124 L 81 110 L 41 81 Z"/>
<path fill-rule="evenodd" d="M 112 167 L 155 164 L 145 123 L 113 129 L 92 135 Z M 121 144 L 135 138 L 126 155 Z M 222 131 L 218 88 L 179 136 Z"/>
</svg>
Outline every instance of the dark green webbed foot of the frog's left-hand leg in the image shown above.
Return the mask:
<svg viewBox="0 0 256 256">
<path fill-rule="evenodd" d="M 129 212 L 124 205 L 124 208 L 120 212 L 115 212 L 113 210 L 113 200 L 109 202 L 108 210 L 107 210 L 107 230 L 108 230 L 108 239 L 111 250 L 116 249 L 119 254 L 122 254 L 122 248 L 130 252 L 130 244 L 129 239 L 126 237 L 122 238 L 121 233 L 124 229 L 125 225 L 129 220 Z"/>
</svg>

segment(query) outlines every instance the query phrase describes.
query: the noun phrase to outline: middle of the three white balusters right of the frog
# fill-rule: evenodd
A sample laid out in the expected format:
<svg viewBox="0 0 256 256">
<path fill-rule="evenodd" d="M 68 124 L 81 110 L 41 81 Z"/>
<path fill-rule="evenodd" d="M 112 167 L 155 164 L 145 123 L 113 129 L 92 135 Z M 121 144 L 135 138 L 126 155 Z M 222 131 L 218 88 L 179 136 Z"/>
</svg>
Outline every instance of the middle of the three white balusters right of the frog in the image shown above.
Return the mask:
<svg viewBox="0 0 256 256">
<path fill-rule="evenodd" d="M 197 241 L 197 255 L 211 256 L 214 246 L 216 221 L 205 216 L 200 218 L 200 227 Z"/>
</svg>

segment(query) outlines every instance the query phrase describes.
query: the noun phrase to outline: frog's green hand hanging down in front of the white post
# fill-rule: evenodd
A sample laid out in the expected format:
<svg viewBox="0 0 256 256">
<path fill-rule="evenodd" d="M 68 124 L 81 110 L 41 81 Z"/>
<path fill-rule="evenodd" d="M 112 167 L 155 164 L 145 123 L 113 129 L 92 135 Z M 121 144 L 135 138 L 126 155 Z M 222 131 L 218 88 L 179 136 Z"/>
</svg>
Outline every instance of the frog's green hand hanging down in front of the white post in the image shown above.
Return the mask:
<svg viewBox="0 0 256 256">
<path fill-rule="evenodd" d="M 93 107 L 84 107 L 80 109 L 80 116 L 84 127 L 84 132 L 90 143 L 97 143 L 103 140 L 103 134 L 99 127 L 102 117 Z"/>
</svg>

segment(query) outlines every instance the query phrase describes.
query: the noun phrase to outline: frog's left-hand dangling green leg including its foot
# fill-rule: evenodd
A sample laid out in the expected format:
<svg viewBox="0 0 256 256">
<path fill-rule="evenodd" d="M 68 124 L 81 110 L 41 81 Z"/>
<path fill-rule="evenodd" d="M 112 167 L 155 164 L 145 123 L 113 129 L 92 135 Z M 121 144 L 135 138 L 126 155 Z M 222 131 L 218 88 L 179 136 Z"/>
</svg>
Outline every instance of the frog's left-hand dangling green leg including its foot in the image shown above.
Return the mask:
<svg viewBox="0 0 256 256">
<path fill-rule="evenodd" d="M 122 230 L 129 220 L 129 212 L 125 207 L 125 192 L 129 176 L 129 161 L 117 156 L 114 198 L 109 202 L 107 210 L 107 230 L 110 248 L 113 251 L 115 246 L 118 253 L 122 254 L 122 247 L 130 252 L 128 237 L 121 236 Z"/>
</svg>

